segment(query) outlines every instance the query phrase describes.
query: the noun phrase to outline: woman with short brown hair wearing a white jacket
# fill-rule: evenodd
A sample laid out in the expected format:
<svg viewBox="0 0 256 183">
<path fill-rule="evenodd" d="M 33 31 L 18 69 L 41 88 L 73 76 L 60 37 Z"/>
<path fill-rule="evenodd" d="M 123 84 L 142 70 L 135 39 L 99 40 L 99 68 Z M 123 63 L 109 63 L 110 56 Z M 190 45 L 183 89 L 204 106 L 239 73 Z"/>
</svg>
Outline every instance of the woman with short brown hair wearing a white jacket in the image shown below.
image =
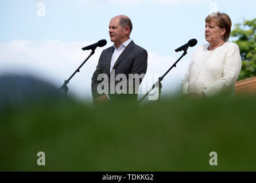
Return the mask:
<svg viewBox="0 0 256 183">
<path fill-rule="evenodd" d="M 205 18 L 205 39 L 193 53 L 181 83 L 183 94 L 213 96 L 226 89 L 235 92 L 235 82 L 242 61 L 238 45 L 228 42 L 231 19 L 225 13 L 212 13 Z"/>
</svg>

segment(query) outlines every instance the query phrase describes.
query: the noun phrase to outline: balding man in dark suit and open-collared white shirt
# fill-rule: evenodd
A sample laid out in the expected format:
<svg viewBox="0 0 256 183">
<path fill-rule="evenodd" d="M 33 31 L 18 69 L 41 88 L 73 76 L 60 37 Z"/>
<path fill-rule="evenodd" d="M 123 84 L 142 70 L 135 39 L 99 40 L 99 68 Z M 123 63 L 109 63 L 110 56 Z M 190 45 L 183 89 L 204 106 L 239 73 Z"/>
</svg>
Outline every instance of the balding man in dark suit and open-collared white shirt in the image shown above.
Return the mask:
<svg viewBox="0 0 256 183">
<path fill-rule="evenodd" d="M 137 100 L 138 86 L 135 85 L 136 83 L 139 85 L 143 75 L 146 74 L 148 53 L 130 39 L 132 28 L 130 18 L 125 15 L 118 15 L 111 19 L 109 34 L 114 45 L 102 51 L 96 70 L 92 75 L 91 87 L 94 101 L 124 98 Z M 105 77 L 99 78 L 104 78 L 104 82 L 97 79 L 102 75 Z M 133 78 L 133 75 L 137 77 Z M 102 85 L 106 87 L 104 93 L 99 92 Z M 119 91 L 117 91 L 118 86 Z"/>
</svg>

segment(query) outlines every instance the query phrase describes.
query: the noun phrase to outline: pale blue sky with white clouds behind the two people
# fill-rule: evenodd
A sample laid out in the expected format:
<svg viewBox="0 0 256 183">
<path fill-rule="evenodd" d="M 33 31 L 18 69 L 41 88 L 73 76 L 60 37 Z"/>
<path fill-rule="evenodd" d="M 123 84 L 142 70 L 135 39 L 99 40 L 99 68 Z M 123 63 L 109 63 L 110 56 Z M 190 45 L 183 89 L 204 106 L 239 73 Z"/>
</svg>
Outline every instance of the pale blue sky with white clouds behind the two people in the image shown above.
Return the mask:
<svg viewBox="0 0 256 183">
<path fill-rule="evenodd" d="M 227 13 L 235 25 L 256 18 L 255 7 L 251 0 L 2 0 L 0 75 L 30 74 L 59 87 L 90 54 L 81 48 L 106 39 L 107 45 L 96 49 L 68 83 L 70 94 L 91 102 L 92 73 L 101 51 L 113 45 L 108 23 L 125 14 L 133 22 L 131 39 L 148 50 L 148 76 L 143 82 L 151 87 L 155 75 L 164 74 L 180 57 L 174 49 L 192 38 L 197 39 L 196 46 L 207 43 L 204 19 L 208 14 Z M 180 89 L 196 46 L 166 75 L 164 94 Z"/>
</svg>

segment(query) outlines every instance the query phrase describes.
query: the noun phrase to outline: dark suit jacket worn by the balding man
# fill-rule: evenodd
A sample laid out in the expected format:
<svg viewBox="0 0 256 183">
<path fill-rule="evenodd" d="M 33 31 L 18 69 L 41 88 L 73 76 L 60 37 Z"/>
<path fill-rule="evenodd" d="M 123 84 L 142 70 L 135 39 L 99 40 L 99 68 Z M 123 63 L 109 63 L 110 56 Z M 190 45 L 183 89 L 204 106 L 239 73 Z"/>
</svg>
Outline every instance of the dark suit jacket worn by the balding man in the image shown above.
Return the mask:
<svg viewBox="0 0 256 183">
<path fill-rule="evenodd" d="M 113 52 L 114 46 L 108 47 L 107 49 L 102 51 L 96 70 L 92 75 L 91 89 L 92 98 L 94 99 L 94 101 L 96 100 L 96 98 L 102 95 L 97 92 L 97 86 L 100 82 L 102 82 L 97 81 L 97 77 L 99 74 L 108 75 L 108 88 L 110 89 L 110 62 Z M 142 47 L 135 45 L 135 43 L 131 41 L 129 45 L 126 46 L 125 50 L 123 50 L 113 66 L 113 70 L 115 70 L 115 76 L 122 73 L 126 75 L 126 78 L 128 78 L 129 74 L 146 74 L 148 66 L 147 61 L 147 51 Z M 111 70 L 111 73 L 113 70 Z M 115 81 L 115 85 L 117 85 L 118 82 L 120 81 Z M 139 83 L 141 83 L 141 81 L 139 81 Z M 110 97 L 110 100 L 123 99 L 128 96 L 129 98 L 133 98 L 133 100 L 137 100 L 138 94 L 109 94 L 108 92 L 108 97 Z"/>
</svg>

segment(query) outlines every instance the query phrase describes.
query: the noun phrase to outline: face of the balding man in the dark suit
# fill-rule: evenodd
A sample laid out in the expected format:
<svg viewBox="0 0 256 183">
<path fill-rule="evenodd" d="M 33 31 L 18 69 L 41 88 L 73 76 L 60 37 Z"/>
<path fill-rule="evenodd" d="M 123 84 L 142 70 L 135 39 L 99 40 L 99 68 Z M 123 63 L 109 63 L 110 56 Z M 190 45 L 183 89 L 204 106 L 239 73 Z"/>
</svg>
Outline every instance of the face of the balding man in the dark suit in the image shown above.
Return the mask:
<svg viewBox="0 0 256 183">
<path fill-rule="evenodd" d="M 125 27 L 119 25 L 119 18 L 112 18 L 108 27 L 110 40 L 114 42 L 116 45 L 122 43 L 123 39 L 126 38 Z"/>
</svg>

